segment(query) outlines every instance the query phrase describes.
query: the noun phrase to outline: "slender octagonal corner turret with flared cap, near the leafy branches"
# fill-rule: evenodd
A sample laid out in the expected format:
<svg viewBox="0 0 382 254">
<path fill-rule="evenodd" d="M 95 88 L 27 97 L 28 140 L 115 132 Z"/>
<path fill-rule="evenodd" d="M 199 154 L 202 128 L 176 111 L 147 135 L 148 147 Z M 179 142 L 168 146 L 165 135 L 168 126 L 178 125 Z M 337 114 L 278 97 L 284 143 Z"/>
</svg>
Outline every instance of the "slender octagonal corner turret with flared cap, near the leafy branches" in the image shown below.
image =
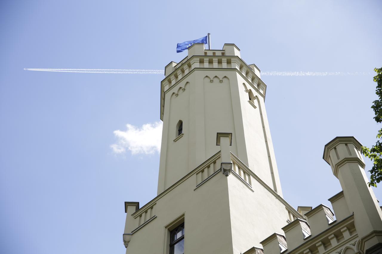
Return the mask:
<svg viewBox="0 0 382 254">
<path fill-rule="evenodd" d="M 325 145 L 324 160 L 340 181 L 346 204 L 354 213 L 354 225 L 367 250 L 381 239 L 375 232 L 382 230 L 382 211 L 371 187 L 367 185 L 361 155 L 362 145 L 354 137 L 336 137 Z M 377 253 L 377 252 L 376 252 Z"/>
</svg>

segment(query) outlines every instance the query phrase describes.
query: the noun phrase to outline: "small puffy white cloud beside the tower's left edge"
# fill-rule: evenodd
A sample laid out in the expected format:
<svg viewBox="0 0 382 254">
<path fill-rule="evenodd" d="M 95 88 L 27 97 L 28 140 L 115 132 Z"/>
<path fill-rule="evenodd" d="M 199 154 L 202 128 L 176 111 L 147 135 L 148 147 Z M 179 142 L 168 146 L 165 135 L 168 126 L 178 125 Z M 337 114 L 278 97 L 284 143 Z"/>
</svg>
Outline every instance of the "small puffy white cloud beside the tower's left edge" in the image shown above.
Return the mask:
<svg viewBox="0 0 382 254">
<path fill-rule="evenodd" d="M 162 122 L 154 124 L 144 124 L 142 127 L 136 127 L 126 124 L 126 130 L 115 130 L 117 142 L 110 145 L 116 154 L 125 153 L 126 149 L 131 154 L 153 154 L 160 152 L 160 143 L 162 141 Z"/>
</svg>

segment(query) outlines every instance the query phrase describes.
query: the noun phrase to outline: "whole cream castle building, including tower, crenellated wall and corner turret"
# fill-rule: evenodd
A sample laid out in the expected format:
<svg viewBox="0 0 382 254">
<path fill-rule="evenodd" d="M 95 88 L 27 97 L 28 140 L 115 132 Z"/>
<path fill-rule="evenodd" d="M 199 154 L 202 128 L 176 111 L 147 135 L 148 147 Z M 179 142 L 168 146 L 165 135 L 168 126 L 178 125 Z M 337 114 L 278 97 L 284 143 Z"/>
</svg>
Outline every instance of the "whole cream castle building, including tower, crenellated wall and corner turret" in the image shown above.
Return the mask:
<svg viewBox="0 0 382 254">
<path fill-rule="evenodd" d="M 125 202 L 126 253 L 382 253 L 382 211 L 355 138 L 325 146 L 343 189 L 329 199 L 335 214 L 283 199 L 265 92 L 234 44 L 196 43 L 165 67 L 158 193 Z"/>
</svg>

